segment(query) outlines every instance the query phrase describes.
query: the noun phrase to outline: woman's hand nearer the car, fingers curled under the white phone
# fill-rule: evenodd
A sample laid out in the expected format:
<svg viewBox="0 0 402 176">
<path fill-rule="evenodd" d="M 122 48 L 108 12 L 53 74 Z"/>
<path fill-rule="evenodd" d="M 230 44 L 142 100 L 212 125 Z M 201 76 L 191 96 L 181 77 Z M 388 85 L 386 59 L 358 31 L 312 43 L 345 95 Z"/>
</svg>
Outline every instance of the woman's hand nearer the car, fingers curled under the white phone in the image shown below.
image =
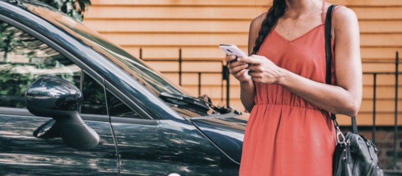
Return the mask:
<svg viewBox="0 0 402 176">
<path fill-rule="evenodd" d="M 237 80 L 240 82 L 249 82 L 251 80 L 251 76 L 248 74 L 248 63 L 239 62 L 236 59 L 235 55 L 226 56 L 225 60 L 228 62 L 229 72 L 235 76 Z"/>
</svg>

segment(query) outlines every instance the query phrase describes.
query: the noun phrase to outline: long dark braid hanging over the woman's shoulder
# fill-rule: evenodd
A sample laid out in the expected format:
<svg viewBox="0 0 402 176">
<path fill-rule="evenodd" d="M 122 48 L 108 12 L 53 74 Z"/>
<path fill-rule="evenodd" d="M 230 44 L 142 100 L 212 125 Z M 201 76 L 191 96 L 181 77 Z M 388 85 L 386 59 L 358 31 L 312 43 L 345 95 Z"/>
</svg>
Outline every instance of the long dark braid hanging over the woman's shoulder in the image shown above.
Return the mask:
<svg viewBox="0 0 402 176">
<path fill-rule="evenodd" d="M 272 28 L 278 22 L 278 19 L 284 14 L 285 9 L 285 0 L 273 0 L 272 7 L 269 8 L 267 16 L 261 24 L 258 37 L 255 40 L 255 46 L 251 54 L 257 53 L 265 37 L 271 32 Z"/>
</svg>

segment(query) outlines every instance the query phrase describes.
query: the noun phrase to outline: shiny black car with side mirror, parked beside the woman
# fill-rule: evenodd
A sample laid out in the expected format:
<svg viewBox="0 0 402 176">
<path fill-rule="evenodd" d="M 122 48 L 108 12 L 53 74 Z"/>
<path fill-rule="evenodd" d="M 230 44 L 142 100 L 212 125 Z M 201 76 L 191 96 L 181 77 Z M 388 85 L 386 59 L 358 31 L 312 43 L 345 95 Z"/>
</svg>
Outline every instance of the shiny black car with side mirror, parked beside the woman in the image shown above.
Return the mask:
<svg viewBox="0 0 402 176">
<path fill-rule="evenodd" d="M 247 119 L 51 7 L 0 0 L 1 175 L 238 175 Z"/>
</svg>

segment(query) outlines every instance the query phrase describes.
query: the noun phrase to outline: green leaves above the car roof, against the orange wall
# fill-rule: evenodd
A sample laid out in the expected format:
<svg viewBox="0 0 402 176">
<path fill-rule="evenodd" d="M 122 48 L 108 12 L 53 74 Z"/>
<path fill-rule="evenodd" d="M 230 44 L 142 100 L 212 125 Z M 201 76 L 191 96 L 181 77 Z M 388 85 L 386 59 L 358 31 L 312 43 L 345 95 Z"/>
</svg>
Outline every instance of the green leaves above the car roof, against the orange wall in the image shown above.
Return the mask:
<svg viewBox="0 0 402 176">
<path fill-rule="evenodd" d="M 91 5 L 90 0 L 39 0 L 58 9 L 70 17 L 82 21 L 83 14 Z"/>
</svg>

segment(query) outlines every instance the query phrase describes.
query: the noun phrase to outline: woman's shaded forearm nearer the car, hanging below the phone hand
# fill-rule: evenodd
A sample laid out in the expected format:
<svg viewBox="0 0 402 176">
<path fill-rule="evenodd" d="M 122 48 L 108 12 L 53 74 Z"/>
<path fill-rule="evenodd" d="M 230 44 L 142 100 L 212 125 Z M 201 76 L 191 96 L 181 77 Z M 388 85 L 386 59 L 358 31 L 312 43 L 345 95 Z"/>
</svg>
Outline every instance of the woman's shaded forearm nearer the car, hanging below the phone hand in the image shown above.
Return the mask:
<svg viewBox="0 0 402 176">
<path fill-rule="evenodd" d="M 251 112 L 254 106 L 255 86 L 252 80 L 240 82 L 240 100 L 248 112 Z"/>
</svg>

